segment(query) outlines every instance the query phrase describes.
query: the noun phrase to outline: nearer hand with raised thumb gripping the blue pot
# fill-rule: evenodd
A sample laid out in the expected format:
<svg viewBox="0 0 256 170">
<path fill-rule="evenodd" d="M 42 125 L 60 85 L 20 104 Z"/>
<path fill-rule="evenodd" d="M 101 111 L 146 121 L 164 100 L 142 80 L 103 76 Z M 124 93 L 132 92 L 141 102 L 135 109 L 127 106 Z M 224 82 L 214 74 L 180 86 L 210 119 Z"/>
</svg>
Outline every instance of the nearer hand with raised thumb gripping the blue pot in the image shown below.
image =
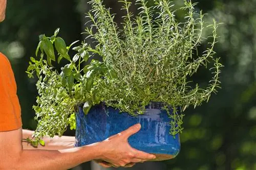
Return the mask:
<svg viewBox="0 0 256 170">
<path fill-rule="evenodd" d="M 114 167 L 133 165 L 133 163 L 144 162 L 147 160 L 155 159 L 156 156 L 147 154 L 142 151 L 138 151 L 131 147 L 128 142 L 128 138 L 137 133 L 140 130 L 140 124 L 136 124 L 127 130 L 120 132 L 116 135 L 105 139 L 99 143 L 99 147 L 102 151 L 99 162 L 102 166 Z M 106 163 L 107 162 L 107 163 Z M 132 163 L 132 164 L 130 164 Z"/>
</svg>

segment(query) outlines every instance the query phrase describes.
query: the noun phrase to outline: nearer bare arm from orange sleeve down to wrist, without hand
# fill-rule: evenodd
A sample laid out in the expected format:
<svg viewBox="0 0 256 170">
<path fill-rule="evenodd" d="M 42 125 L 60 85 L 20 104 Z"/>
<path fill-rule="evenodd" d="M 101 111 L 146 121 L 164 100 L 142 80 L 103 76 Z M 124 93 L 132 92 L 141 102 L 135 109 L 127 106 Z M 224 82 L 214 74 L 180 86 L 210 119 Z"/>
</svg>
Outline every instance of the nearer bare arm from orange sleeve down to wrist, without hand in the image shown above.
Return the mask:
<svg viewBox="0 0 256 170">
<path fill-rule="evenodd" d="M 0 132 L 0 169 L 69 169 L 99 159 L 99 143 L 66 150 L 23 150 L 22 129 Z"/>
</svg>

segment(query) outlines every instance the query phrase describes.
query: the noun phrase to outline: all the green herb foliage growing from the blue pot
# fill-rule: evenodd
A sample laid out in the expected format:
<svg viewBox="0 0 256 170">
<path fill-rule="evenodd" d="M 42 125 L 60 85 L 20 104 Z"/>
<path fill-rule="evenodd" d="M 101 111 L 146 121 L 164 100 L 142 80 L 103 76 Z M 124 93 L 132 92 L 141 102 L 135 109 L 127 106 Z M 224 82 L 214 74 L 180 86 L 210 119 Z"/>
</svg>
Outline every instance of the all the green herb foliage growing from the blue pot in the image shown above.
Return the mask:
<svg viewBox="0 0 256 170">
<path fill-rule="evenodd" d="M 84 114 L 88 114 L 93 105 L 102 101 L 131 115 L 142 114 L 144 106 L 152 101 L 162 102 L 172 119 L 170 134 L 175 135 L 183 130 L 183 114 L 179 111 L 201 105 L 220 88 L 222 65 L 214 58 L 218 28 L 215 20 L 205 26 L 204 15 L 190 1 L 184 1 L 180 8 L 185 14 L 182 22 L 176 18 L 170 1 L 159 0 L 150 7 L 147 1 L 137 0 L 140 7 L 135 19 L 131 3 L 121 3 L 126 13 L 123 30 L 101 0 L 90 1 L 92 10 L 87 17 L 92 25 L 86 33 L 95 47 L 85 42 L 76 44 L 78 41 L 67 46 L 57 36 L 59 29 L 51 37 L 40 36 L 36 55 L 40 50 L 41 58 L 31 58 L 28 68 L 29 76 L 36 72 L 39 78 L 37 104 L 42 110 L 36 113 L 41 118 L 38 138 L 46 134 L 61 136 L 68 124 L 74 129 L 77 107 L 82 106 Z M 204 28 L 211 28 L 212 35 L 202 37 Z M 197 48 L 203 40 L 208 40 L 208 46 L 199 54 Z M 60 74 L 52 66 L 55 53 L 62 66 Z M 101 56 L 103 62 L 96 61 L 95 56 Z M 69 64 L 62 65 L 62 59 Z M 209 85 L 201 88 L 195 82 L 193 86 L 188 78 L 209 64 L 213 65 Z"/>
</svg>

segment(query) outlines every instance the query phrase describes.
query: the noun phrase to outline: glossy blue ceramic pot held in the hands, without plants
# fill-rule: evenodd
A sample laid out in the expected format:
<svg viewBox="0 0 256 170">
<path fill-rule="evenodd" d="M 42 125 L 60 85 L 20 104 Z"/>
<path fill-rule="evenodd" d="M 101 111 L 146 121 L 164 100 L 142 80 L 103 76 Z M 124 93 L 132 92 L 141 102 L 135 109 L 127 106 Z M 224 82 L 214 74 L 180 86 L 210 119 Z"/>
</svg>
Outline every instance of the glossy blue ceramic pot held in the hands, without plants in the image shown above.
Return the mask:
<svg viewBox="0 0 256 170">
<path fill-rule="evenodd" d="M 174 158 L 180 151 L 179 134 L 169 134 L 170 118 L 160 103 L 146 107 L 143 115 L 131 116 L 118 109 L 106 107 L 103 103 L 93 106 L 88 115 L 82 108 L 76 113 L 76 147 L 99 142 L 115 135 L 132 125 L 141 124 L 141 130 L 129 138 L 131 146 L 137 150 L 153 153 L 156 160 Z M 172 113 L 172 110 L 170 110 Z"/>
</svg>

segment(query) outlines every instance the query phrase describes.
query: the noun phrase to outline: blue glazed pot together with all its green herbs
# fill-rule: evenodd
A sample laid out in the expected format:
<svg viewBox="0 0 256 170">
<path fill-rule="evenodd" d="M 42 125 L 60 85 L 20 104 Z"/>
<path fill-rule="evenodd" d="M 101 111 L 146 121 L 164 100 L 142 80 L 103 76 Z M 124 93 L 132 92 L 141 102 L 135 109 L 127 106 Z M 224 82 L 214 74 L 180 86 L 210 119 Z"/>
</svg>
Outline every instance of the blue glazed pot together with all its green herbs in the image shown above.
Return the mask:
<svg viewBox="0 0 256 170">
<path fill-rule="evenodd" d="M 76 129 L 75 145 L 81 146 L 141 123 L 141 131 L 129 139 L 132 147 L 156 154 L 157 160 L 179 153 L 182 112 L 208 101 L 220 87 L 222 65 L 214 58 L 218 24 L 213 20 L 207 26 L 211 36 L 203 38 L 204 15 L 195 10 L 196 4 L 184 1 L 179 21 L 172 2 L 154 2 L 148 7 L 137 0 L 140 12 L 134 17 L 131 3 L 121 1 L 126 15 L 118 28 L 102 0 L 90 1 L 87 17 L 92 25 L 84 33 L 95 47 L 77 41 L 67 46 L 59 29 L 51 37 L 40 36 L 37 58 L 31 57 L 27 70 L 29 77 L 38 77 L 39 93 L 34 106 L 38 126 L 29 142 L 43 144 L 42 136 L 61 136 L 70 126 Z M 209 46 L 199 54 L 203 40 Z M 94 60 L 95 55 L 102 61 Z M 189 78 L 207 64 L 213 65 L 208 87 L 190 87 Z"/>
</svg>

